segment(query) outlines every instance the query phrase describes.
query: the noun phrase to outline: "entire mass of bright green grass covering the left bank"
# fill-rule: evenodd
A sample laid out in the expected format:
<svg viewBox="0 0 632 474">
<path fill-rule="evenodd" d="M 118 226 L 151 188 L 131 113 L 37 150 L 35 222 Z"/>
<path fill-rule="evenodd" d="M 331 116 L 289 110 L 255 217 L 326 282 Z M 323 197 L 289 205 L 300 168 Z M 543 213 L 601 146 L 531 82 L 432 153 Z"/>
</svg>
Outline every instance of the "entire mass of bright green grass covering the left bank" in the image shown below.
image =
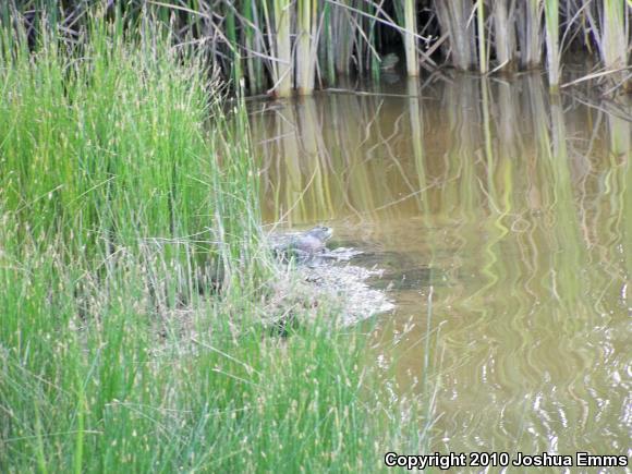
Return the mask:
<svg viewBox="0 0 632 474">
<path fill-rule="evenodd" d="M 276 267 L 244 109 L 151 29 L 95 21 L 69 52 L 2 28 L 0 472 L 356 472 L 416 452 L 422 422 L 380 401 L 364 338 L 325 303 L 288 338 L 262 325 Z"/>
</svg>

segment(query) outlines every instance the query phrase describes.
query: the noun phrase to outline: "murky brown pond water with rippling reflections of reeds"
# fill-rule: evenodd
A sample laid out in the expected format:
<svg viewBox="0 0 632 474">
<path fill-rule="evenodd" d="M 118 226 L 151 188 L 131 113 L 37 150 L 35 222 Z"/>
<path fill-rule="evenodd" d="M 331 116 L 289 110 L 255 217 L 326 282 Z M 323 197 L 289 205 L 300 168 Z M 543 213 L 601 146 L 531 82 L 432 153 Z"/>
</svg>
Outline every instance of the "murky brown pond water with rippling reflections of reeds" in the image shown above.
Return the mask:
<svg viewBox="0 0 632 474">
<path fill-rule="evenodd" d="M 380 340 L 415 326 L 381 350 L 432 372 L 430 449 L 630 454 L 631 124 L 539 76 L 393 92 L 252 105 L 266 220 L 387 269 Z"/>
</svg>

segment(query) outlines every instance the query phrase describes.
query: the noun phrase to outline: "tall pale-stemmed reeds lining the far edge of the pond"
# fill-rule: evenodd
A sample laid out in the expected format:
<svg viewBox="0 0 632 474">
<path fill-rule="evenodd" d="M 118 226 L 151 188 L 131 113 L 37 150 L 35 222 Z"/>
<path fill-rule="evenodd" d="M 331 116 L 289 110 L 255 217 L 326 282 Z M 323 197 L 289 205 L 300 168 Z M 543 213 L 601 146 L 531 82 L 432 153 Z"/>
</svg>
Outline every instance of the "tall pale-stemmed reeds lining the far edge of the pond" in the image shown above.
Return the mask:
<svg viewBox="0 0 632 474">
<path fill-rule="evenodd" d="M 57 2 L 11 3 L 29 29 L 42 27 L 32 20 L 45 9 L 69 37 L 81 36 L 92 8 L 78 0 L 63 10 Z M 308 95 L 352 72 L 378 77 L 379 58 L 393 48 L 403 50 L 410 76 L 441 65 L 486 74 L 546 64 L 552 89 L 561 85 L 563 52 L 582 48 L 616 85 L 630 84 L 625 0 L 131 0 L 109 10 L 151 12 L 174 42 L 196 45 L 234 88 L 244 80 L 253 95 Z"/>
</svg>

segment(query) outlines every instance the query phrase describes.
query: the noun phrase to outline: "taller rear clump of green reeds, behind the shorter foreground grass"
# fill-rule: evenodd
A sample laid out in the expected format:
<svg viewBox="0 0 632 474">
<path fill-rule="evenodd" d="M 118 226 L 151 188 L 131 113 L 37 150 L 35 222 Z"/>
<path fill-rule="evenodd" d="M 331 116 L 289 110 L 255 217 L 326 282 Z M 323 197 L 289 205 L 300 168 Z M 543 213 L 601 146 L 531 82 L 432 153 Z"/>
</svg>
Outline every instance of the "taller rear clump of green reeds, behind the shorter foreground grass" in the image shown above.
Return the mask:
<svg viewBox="0 0 632 474">
<path fill-rule="evenodd" d="M 45 39 L 34 61 L 24 47 L 3 48 L 4 62 L 14 61 L 0 99 L 5 212 L 21 238 L 59 235 L 69 258 L 94 262 L 149 241 L 173 257 L 191 246 L 202 259 L 218 258 L 220 245 L 192 245 L 191 235 L 215 242 L 219 228 L 243 224 L 252 195 L 218 212 L 221 186 L 232 183 L 220 157 L 244 166 L 251 157 L 220 137 L 209 144 L 207 114 L 217 126 L 228 122 L 207 94 L 200 58 L 177 52 L 169 38 L 126 38 L 102 25 L 88 35 L 77 59 L 64 59 L 54 40 Z M 192 66 L 172 68 L 178 61 Z M 231 239 L 247 248 L 253 235 L 248 224 Z"/>
</svg>

